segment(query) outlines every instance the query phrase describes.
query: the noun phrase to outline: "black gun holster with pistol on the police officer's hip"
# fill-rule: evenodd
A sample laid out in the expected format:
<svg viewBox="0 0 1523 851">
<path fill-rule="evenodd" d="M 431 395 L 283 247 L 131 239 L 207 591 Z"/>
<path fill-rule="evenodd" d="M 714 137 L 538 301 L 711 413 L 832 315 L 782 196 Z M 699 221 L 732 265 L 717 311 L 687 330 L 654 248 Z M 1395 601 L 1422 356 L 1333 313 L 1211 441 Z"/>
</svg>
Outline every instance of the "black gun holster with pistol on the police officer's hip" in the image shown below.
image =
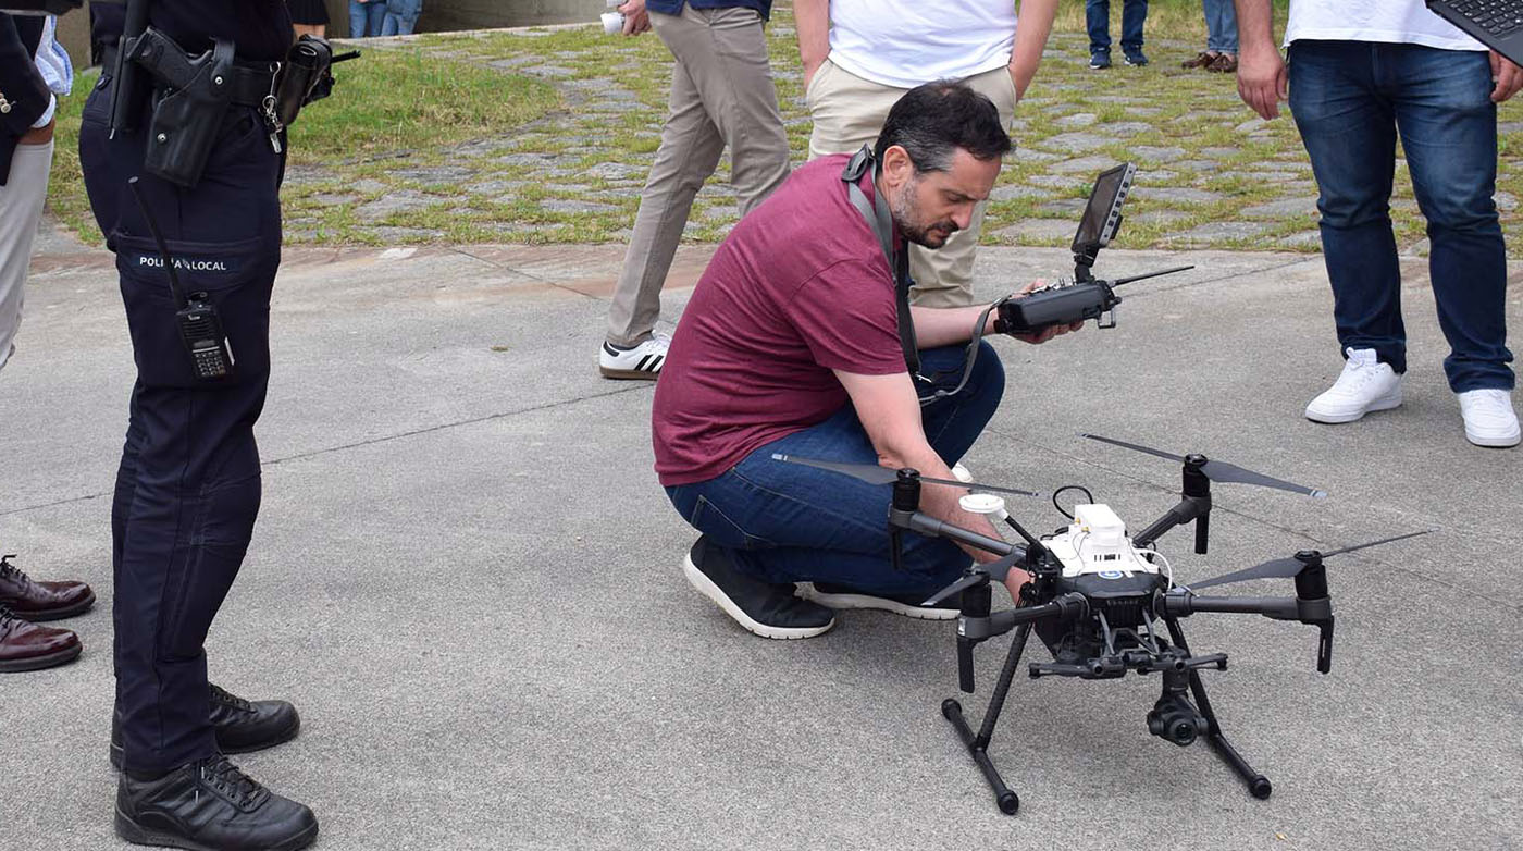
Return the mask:
<svg viewBox="0 0 1523 851">
<path fill-rule="evenodd" d="M 206 53 L 189 56 L 172 38 L 148 27 L 123 49 L 126 61 L 142 65 L 160 84 L 148 122 L 143 169 L 193 187 L 231 102 L 233 43 L 219 38 Z"/>
</svg>

